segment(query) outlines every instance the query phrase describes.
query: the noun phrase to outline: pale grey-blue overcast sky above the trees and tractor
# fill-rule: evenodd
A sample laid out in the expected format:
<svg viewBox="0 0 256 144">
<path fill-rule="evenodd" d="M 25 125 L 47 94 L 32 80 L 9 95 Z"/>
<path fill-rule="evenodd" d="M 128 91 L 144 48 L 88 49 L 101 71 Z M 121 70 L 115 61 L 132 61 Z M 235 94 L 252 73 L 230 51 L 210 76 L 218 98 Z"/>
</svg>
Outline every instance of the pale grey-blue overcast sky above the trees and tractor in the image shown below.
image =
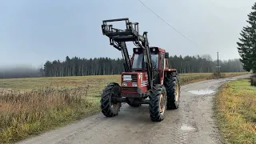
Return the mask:
<svg viewBox="0 0 256 144">
<path fill-rule="evenodd" d="M 150 46 L 170 55 L 239 58 L 236 42 L 253 0 L 1 0 L 0 66 L 38 66 L 66 56 L 120 58 L 102 35 L 103 19 L 130 18 L 148 31 Z M 133 45 L 128 45 L 130 52 Z"/>
</svg>

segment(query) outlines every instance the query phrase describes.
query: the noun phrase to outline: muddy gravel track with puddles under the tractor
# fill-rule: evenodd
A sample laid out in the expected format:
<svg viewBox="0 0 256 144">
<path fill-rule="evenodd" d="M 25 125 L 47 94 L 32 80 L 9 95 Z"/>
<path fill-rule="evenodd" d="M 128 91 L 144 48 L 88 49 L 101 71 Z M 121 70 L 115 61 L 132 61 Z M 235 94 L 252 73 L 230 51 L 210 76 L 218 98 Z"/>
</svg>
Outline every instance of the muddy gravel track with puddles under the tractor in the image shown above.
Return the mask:
<svg viewBox="0 0 256 144">
<path fill-rule="evenodd" d="M 134 108 L 123 104 L 120 113 L 114 118 L 96 114 L 20 143 L 222 143 L 214 123 L 213 98 L 218 86 L 231 79 L 208 80 L 182 86 L 180 108 L 168 110 L 162 122 L 150 121 L 146 105 Z"/>
</svg>

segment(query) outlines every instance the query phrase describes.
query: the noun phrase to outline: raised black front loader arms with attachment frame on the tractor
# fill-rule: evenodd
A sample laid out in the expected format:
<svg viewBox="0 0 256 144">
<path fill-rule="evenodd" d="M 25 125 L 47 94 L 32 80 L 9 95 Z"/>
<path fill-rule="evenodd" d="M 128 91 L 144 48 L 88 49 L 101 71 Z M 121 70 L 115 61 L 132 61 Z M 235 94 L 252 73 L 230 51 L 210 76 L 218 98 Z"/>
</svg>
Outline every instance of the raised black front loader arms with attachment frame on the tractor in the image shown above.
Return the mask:
<svg viewBox="0 0 256 144">
<path fill-rule="evenodd" d="M 113 28 L 112 25 L 107 25 L 107 22 L 126 22 L 126 30 L 118 30 Z M 147 32 L 142 35 L 138 32 L 138 22 L 132 23 L 129 18 L 110 19 L 102 21 L 102 34 L 110 38 L 110 45 L 114 46 L 118 50 L 122 50 L 122 57 L 125 59 L 126 72 L 131 71 L 131 63 L 126 47 L 126 42 L 134 42 L 135 46 L 142 48 L 144 56 L 146 56 L 146 70 L 148 75 L 148 90 L 152 90 L 153 87 L 153 67 L 151 62 L 150 47 L 147 38 Z M 144 64 L 144 58 L 142 65 Z M 144 67 L 145 68 L 145 67 Z"/>
</svg>

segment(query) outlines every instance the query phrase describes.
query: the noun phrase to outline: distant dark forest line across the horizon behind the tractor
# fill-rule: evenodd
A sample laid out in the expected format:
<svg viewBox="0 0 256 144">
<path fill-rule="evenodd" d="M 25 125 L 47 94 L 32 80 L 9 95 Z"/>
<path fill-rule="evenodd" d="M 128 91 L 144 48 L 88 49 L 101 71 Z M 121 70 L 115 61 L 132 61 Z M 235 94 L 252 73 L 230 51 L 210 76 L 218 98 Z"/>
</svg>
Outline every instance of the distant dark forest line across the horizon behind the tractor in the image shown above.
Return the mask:
<svg viewBox="0 0 256 144">
<path fill-rule="evenodd" d="M 170 56 L 171 68 L 178 69 L 178 73 L 212 73 L 216 70 L 217 61 L 210 55 L 202 56 Z M 242 62 L 239 59 L 219 61 L 221 72 L 242 72 Z M 61 62 L 47 61 L 43 67 L 45 77 L 66 77 L 84 75 L 121 74 L 124 71 L 122 58 L 69 58 Z"/>
</svg>

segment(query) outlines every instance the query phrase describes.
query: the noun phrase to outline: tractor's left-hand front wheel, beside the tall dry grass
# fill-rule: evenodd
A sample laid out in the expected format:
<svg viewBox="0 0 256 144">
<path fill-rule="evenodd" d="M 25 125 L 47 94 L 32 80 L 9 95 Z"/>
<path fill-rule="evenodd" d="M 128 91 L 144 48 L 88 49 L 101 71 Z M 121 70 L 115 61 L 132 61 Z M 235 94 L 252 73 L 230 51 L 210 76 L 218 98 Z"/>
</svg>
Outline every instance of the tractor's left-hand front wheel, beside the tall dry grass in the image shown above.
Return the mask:
<svg viewBox="0 0 256 144">
<path fill-rule="evenodd" d="M 121 102 L 112 102 L 112 98 L 118 98 L 121 96 L 121 87 L 118 83 L 108 84 L 104 90 L 102 90 L 101 109 L 102 114 L 106 117 L 114 117 L 118 115 L 121 107 Z"/>
</svg>

